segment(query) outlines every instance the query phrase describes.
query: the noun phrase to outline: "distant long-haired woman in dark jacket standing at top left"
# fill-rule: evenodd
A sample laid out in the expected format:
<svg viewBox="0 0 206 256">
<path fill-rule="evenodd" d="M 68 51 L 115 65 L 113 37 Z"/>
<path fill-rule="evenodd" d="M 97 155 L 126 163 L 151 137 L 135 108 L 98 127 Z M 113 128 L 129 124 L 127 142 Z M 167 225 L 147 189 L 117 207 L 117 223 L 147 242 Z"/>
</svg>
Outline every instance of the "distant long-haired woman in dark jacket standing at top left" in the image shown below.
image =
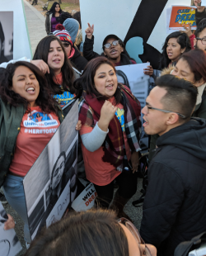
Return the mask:
<svg viewBox="0 0 206 256">
<path fill-rule="evenodd" d="M 62 12 L 59 2 L 54 2 L 50 10 L 46 12 L 45 29 L 47 35 L 55 31 L 55 27 L 60 23 L 59 17 Z"/>
</svg>

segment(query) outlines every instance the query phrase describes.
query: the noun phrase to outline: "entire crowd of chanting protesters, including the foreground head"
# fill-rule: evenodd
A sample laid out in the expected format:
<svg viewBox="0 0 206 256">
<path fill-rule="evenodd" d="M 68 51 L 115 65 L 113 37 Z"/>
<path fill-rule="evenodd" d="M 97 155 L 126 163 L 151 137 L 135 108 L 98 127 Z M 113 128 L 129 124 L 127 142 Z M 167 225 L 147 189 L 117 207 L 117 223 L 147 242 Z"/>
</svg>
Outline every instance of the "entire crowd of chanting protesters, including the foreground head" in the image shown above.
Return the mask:
<svg viewBox="0 0 206 256">
<path fill-rule="evenodd" d="M 88 23 L 83 43 L 80 12 L 63 12 L 59 2 L 46 13 L 48 36 L 33 59 L 0 64 L 0 187 L 24 221 L 26 256 L 171 256 L 178 244 L 206 232 L 206 8 L 199 2 L 195 33 L 189 27 L 160 42 L 162 73 L 142 106 L 143 124 L 138 98 L 116 76 L 115 66 L 136 64 L 123 40 L 105 36 L 97 54 L 94 25 Z M 151 65 L 144 73 L 155 77 Z M 43 226 L 31 241 L 22 180 L 54 133 L 25 134 L 24 120 L 35 110 L 51 115 L 58 128 L 73 99 L 98 209 Z M 138 232 L 124 206 L 137 191 L 142 126 L 150 145 Z M 14 225 L 9 216 L 5 230 Z"/>
</svg>

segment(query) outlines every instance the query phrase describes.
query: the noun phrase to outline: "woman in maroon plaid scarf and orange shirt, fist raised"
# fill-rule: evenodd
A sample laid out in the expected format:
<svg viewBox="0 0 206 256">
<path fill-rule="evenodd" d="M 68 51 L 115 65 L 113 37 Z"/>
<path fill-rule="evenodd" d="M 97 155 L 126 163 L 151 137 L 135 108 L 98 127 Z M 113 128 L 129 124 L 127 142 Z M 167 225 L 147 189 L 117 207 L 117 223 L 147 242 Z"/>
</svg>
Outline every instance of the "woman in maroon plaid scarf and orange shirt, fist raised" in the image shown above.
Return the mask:
<svg viewBox="0 0 206 256">
<path fill-rule="evenodd" d="M 79 95 L 80 135 L 86 177 L 94 183 L 101 207 L 113 198 L 119 216 L 137 190 L 140 103 L 129 88 L 117 82 L 114 64 L 105 57 L 91 59 L 74 82 Z"/>
</svg>

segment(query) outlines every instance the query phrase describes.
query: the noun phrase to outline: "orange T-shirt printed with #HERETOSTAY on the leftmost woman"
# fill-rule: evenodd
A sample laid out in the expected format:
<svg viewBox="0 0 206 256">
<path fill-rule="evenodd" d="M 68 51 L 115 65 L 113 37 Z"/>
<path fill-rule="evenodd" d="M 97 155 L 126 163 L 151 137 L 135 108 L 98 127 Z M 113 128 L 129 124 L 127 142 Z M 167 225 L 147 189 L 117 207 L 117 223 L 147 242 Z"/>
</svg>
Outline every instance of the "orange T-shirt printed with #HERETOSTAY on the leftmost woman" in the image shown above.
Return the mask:
<svg viewBox="0 0 206 256">
<path fill-rule="evenodd" d="M 40 117 L 36 117 L 37 113 Z M 24 177 L 59 126 L 59 118 L 55 114 L 44 114 L 40 107 L 30 107 L 30 113 L 26 112 L 21 121 L 9 171 Z"/>
</svg>

